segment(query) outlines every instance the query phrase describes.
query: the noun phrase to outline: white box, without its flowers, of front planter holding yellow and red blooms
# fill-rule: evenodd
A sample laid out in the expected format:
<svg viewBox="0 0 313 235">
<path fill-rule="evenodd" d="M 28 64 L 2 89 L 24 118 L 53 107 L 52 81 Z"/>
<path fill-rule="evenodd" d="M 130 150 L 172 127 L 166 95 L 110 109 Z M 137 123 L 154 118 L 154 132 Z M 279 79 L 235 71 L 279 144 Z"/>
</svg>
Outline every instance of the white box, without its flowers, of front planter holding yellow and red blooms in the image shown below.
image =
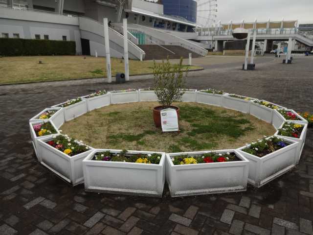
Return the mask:
<svg viewBox="0 0 313 235">
<path fill-rule="evenodd" d="M 236 150 L 219 150 L 216 153 L 235 152 L 242 161 L 224 163 L 174 165 L 171 156 L 203 154 L 210 151 L 166 154 L 166 181 L 173 197 L 245 191 L 248 161 Z"/>
</svg>

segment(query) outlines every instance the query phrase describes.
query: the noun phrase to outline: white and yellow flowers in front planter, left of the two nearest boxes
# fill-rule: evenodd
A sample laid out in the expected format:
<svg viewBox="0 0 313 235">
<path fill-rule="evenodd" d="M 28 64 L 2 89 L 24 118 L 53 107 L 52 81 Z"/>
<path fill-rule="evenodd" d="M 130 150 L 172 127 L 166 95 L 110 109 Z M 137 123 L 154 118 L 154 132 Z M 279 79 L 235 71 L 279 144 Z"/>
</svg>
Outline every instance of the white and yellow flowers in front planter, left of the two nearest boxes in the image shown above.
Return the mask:
<svg viewBox="0 0 313 235">
<path fill-rule="evenodd" d="M 145 164 L 159 164 L 161 154 L 143 154 L 127 153 L 127 150 L 123 150 L 120 153 L 112 153 L 110 151 L 97 152 L 94 154 L 92 160 L 94 161 L 111 161 L 111 162 L 127 162 L 127 163 L 145 163 Z"/>
</svg>

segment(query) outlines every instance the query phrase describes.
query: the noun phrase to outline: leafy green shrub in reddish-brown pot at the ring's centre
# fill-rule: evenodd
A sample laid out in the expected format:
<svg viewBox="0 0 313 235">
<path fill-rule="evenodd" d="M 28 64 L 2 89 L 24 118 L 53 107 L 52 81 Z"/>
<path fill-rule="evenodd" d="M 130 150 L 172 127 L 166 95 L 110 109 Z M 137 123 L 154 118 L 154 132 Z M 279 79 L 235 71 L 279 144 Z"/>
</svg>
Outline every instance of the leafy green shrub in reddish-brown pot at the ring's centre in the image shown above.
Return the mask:
<svg viewBox="0 0 313 235">
<path fill-rule="evenodd" d="M 160 104 L 160 106 L 156 106 L 153 109 L 156 127 L 161 126 L 160 112 L 162 109 L 176 109 L 179 118 L 179 107 L 172 106 L 172 103 L 180 101 L 181 96 L 184 94 L 182 90 L 185 84 L 184 71 L 187 75 L 188 68 L 183 70 L 182 58 L 180 58 L 179 64 L 176 65 L 172 65 L 169 59 L 166 62 L 162 61 L 161 64 L 156 64 L 154 61 L 154 90 Z"/>
</svg>

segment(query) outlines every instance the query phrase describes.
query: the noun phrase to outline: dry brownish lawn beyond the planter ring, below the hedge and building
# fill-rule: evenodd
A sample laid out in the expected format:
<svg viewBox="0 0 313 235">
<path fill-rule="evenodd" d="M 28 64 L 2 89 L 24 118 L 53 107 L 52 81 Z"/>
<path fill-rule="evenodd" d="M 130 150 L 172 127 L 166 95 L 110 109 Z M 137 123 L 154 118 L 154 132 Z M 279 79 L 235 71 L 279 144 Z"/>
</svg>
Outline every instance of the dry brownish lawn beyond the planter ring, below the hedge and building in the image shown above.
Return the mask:
<svg viewBox="0 0 313 235">
<path fill-rule="evenodd" d="M 39 64 L 39 61 L 43 64 Z M 124 61 L 111 58 L 112 75 L 124 72 Z M 201 67 L 190 67 L 200 69 Z M 130 74 L 152 73 L 153 62 L 129 61 Z M 16 56 L 0 58 L 0 84 L 106 77 L 106 59 L 86 56 Z"/>
</svg>

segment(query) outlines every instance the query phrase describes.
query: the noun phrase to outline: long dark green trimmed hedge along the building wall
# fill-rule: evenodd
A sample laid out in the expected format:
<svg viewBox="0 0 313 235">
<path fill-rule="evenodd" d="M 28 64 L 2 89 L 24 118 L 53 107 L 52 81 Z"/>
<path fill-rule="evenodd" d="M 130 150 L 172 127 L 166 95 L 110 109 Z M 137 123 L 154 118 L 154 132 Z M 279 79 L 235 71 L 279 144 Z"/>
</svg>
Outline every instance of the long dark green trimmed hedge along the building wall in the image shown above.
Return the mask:
<svg viewBox="0 0 313 235">
<path fill-rule="evenodd" d="M 19 55 L 75 55 L 74 41 L 0 38 L 1 56 Z"/>
</svg>

